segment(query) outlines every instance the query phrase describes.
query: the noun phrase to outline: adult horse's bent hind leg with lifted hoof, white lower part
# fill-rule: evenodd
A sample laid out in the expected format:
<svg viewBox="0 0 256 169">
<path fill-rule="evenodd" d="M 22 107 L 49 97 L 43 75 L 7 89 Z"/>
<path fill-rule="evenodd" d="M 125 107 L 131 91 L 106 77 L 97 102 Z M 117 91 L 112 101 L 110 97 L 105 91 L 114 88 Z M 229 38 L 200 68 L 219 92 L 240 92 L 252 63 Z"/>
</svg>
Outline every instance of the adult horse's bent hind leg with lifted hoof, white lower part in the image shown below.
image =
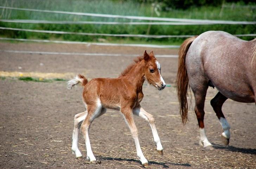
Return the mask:
<svg viewBox="0 0 256 169">
<path fill-rule="evenodd" d="M 211 105 L 212 105 L 213 110 L 215 111 L 215 113 L 219 119 L 220 125 L 222 126 L 222 129 L 223 129 L 223 133 L 221 134 L 222 142 L 225 145 L 229 145 L 230 126 L 229 126 L 228 121 L 225 119 L 225 117 L 222 113 L 222 110 L 221 110 L 222 105 L 226 101 L 226 99 L 228 99 L 228 98 L 226 98 L 220 92 L 218 92 L 217 95 L 211 100 Z"/>
</svg>

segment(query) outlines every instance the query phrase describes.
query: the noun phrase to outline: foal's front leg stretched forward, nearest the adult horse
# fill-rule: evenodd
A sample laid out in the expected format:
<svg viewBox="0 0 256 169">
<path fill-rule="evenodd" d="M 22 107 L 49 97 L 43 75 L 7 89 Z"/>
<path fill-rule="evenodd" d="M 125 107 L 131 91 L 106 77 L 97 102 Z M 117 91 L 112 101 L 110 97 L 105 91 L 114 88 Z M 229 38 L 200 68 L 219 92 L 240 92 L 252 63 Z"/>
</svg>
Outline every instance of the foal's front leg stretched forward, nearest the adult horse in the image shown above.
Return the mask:
<svg viewBox="0 0 256 169">
<path fill-rule="evenodd" d="M 160 155 L 163 155 L 163 147 L 161 145 L 160 138 L 156 130 L 155 119 L 153 115 L 146 112 L 140 105 L 133 109 L 133 114 L 138 115 L 139 117 L 142 117 L 143 119 L 149 122 L 149 125 L 153 133 L 153 138 L 156 144 L 156 150 Z"/>
</svg>

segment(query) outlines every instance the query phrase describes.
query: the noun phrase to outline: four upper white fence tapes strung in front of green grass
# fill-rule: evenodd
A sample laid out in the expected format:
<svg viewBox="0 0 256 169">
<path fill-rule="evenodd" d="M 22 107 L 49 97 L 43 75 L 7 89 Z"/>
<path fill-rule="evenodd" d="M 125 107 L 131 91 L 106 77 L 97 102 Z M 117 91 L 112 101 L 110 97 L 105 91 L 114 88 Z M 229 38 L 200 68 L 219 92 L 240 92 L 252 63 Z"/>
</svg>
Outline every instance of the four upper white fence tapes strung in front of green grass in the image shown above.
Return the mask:
<svg viewBox="0 0 256 169">
<path fill-rule="evenodd" d="M 165 17 L 147 17 L 147 16 L 123 16 L 123 15 L 110 15 L 110 14 L 95 14 L 95 13 L 82 13 L 82 12 L 67 12 L 57 10 L 41 10 L 41 9 L 28 9 L 28 8 L 14 8 L 0 6 L 2 9 L 13 10 L 26 10 L 34 12 L 46 12 L 46 13 L 59 13 L 69 15 L 83 15 L 94 17 L 112 17 L 131 20 L 147 20 L 149 22 L 99 22 L 99 21 L 45 21 L 45 20 L 8 20 L 2 19 L 0 22 L 12 22 L 12 23 L 45 23 L 45 24 L 128 24 L 128 25 L 205 25 L 205 24 L 256 24 L 255 21 L 224 21 L 224 20 L 200 20 L 200 19 L 177 19 L 177 18 L 165 18 Z M 161 21 L 161 22 L 152 22 Z M 21 29 L 21 28 L 9 28 L 0 27 L 2 30 L 17 30 L 28 31 L 36 33 L 49 33 L 49 34 L 75 34 L 86 36 L 115 36 L 115 37 L 143 37 L 143 38 L 184 38 L 192 37 L 194 35 L 142 35 L 142 34 L 103 34 L 103 33 L 83 33 L 83 32 L 69 32 L 69 31 L 53 31 L 53 30 L 38 30 L 38 29 Z M 241 36 L 256 36 L 256 34 L 238 34 Z M 14 41 L 32 41 L 32 42 L 52 42 L 52 43 L 76 43 L 87 45 L 115 45 L 115 46 L 133 46 L 133 47 L 152 47 L 152 48 L 179 48 L 179 45 L 151 45 L 151 44 L 116 44 L 116 43 L 93 43 L 93 42 L 76 42 L 76 41 L 53 41 L 53 40 L 36 40 L 36 39 L 22 39 L 22 38 L 4 38 L 1 40 L 14 40 Z"/>
</svg>

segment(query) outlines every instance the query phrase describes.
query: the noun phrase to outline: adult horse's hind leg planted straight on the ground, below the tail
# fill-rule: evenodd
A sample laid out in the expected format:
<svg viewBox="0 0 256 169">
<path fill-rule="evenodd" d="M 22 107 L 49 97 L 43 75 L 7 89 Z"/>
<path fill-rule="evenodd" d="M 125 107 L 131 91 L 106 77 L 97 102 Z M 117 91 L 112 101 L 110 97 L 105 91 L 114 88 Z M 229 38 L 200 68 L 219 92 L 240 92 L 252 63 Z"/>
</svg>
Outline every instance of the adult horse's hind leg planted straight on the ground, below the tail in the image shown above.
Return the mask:
<svg viewBox="0 0 256 169">
<path fill-rule="evenodd" d="M 206 96 L 206 91 L 208 86 L 201 86 L 198 87 L 197 89 L 193 89 L 191 87 L 194 93 L 195 97 L 195 108 L 194 111 L 197 116 L 197 121 L 199 125 L 199 131 L 200 131 L 200 141 L 199 145 L 203 146 L 205 149 L 212 150 L 212 144 L 208 141 L 206 134 L 205 134 L 205 129 L 204 129 L 204 101 L 205 101 L 205 96 Z"/>
</svg>

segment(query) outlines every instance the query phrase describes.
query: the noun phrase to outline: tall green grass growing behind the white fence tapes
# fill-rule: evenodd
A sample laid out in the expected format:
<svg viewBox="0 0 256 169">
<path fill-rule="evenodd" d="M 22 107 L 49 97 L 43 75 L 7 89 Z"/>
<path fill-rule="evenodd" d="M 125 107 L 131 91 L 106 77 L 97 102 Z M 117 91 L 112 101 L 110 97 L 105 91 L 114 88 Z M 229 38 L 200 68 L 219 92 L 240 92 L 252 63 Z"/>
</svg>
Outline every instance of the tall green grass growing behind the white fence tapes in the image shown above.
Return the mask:
<svg viewBox="0 0 256 169">
<path fill-rule="evenodd" d="M 61 10 L 70 12 L 118 14 L 133 16 L 155 16 L 152 13 L 152 5 L 149 3 L 138 3 L 137 1 L 114 1 L 114 0 L 0 0 L 1 6 L 12 6 L 19 8 Z M 256 5 L 256 3 L 255 3 Z M 212 19 L 233 21 L 255 21 L 255 8 L 224 8 L 212 7 L 190 7 L 187 10 L 169 10 L 161 12 L 159 17 L 174 17 L 186 19 Z M 0 19 L 31 19 L 49 21 L 119 21 L 129 22 L 129 19 L 78 16 L 69 14 L 55 14 L 43 12 L 31 12 L 23 10 L 0 9 Z M 133 20 L 137 21 L 137 20 Z M 6 23 L 0 22 L 1 27 L 13 27 L 24 29 L 57 30 L 89 33 L 107 34 L 146 34 L 148 25 L 103 25 L 103 24 L 31 24 L 31 23 Z M 151 35 L 199 35 L 207 30 L 223 30 L 231 34 L 253 34 L 256 33 L 255 25 L 189 25 L 189 26 L 165 26 L 152 25 L 149 31 Z M 1 36 L 12 38 L 40 38 L 60 39 L 70 41 L 98 41 L 104 38 L 109 42 L 141 42 L 141 43 L 164 43 L 179 44 L 184 38 L 137 38 L 137 37 L 106 37 L 106 36 L 82 36 L 82 35 L 59 35 L 46 33 L 30 33 L 25 31 L 0 30 Z M 241 37 L 251 40 L 254 37 Z"/>
</svg>

